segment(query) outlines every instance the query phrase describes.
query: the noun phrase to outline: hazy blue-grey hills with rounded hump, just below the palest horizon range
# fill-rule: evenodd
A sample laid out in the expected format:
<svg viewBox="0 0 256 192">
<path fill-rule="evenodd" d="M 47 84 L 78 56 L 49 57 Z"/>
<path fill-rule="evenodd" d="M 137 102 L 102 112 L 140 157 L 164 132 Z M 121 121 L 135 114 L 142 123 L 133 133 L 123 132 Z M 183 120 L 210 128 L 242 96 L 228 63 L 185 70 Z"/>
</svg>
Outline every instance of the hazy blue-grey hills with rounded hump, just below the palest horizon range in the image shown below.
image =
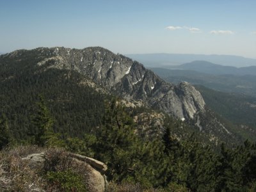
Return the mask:
<svg viewBox="0 0 256 192">
<path fill-rule="evenodd" d="M 207 74 L 195 70 L 171 70 L 167 68 L 151 68 L 166 81 L 179 83 L 188 81 L 191 84 L 201 84 L 221 92 L 240 93 L 256 97 L 256 76 L 234 74 Z"/>
</svg>

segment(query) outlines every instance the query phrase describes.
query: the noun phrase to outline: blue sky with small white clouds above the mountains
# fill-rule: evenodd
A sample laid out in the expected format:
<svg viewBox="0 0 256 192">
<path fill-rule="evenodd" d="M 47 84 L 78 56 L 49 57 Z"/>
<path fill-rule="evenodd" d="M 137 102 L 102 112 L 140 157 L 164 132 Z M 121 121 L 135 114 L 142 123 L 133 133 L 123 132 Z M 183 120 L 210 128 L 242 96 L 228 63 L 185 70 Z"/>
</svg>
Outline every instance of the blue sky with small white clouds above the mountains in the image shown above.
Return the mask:
<svg viewBox="0 0 256 192">
<path fill-rule="evenodd" d="M 255 10 L 255 0 L 0 0 L 0 52 L 100 46 L 256 58 Z"/>
</svg>

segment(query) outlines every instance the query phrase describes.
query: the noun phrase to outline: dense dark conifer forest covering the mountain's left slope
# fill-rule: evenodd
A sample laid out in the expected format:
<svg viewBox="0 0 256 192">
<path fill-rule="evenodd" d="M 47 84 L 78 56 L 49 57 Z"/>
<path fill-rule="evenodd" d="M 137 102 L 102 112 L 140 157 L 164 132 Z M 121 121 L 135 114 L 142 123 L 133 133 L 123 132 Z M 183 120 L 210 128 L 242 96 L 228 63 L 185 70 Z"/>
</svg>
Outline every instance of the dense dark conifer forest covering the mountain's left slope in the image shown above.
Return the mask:
<svg viewBox="0 0 256 192">
<path fill-rule="evenodd" d="M 17 62 L 0 60 L 0 106 L 11 135 L 16 140 L 28 140 L 28 132 L 35 128 L 31 115 L 38 112 L 34 104 L 40 94 L 55 120 L 54 132 L 82 138 L 93 131 L 102 120 L 104 97 L 108 96 L 83 84 L 86 76 L 69 70 L 46 70 L 35 65 L 38 62 L 35 55 Z"/>
</svg>

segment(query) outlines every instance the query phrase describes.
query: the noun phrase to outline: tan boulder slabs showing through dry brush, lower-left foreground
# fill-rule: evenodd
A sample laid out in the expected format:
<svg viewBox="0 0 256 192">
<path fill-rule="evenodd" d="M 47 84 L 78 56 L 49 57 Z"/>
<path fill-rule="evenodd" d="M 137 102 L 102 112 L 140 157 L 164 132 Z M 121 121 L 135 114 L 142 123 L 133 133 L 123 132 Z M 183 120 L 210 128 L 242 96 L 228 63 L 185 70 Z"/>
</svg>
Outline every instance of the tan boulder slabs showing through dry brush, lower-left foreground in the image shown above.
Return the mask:
<svg viewBox="0 0 256 192">
<path fill-rule="evenodd" d="M 81 156 L 79 154 L 66 153 L 64 161 L 69 161 L 70 167 L 83 167 L 86 169 L 86 184 L 92 192 L 104 192 L 108 186 L 106 175 L 104 173 L 108 169 L 106 164 L 92 159 L 90 157 Z M 35 170 L 42 170 L 45 166 L 45 153 L 30 154 L 22 158 L 22 161 L 28 161 L 29 167 Z M 58 164 L 57 164 L 58 165 Z"/>
</svg>

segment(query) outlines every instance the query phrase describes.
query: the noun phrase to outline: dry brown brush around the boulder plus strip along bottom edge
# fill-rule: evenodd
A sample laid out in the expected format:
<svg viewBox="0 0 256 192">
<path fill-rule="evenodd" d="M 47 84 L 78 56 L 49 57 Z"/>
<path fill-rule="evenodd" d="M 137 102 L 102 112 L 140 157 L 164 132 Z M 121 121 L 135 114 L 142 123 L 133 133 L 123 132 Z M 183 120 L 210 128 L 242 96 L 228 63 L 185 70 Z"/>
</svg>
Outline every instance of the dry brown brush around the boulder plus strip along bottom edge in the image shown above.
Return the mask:
<svg viewBox="0 0 256 192">
<path fill-rule="evenodd" d="M 22 161 L 22 157 L 29 154 L 45 154 L 44 165 L 38 168 L 31 168 L 28 161 Z M 38 148 L 35 146 L 20 146 L 15 148 L 5 148 L 0 151 L 0 191 L 65 191 L 60 183 L 52 183 L 47 180 L 49 172 L 65 172 L 72 170 L 81 176 L 87 191 L 92 192 L 93 182 L 88 174 L 88 166 L 82 161 L 72 159 L 70 154 L 58 148 Z M 79 191 L 79 190 L 72 190 Z M 140 184 L 123 183 L 116 184 L 110 182 L 106 192 L 185 192 L 186 188 L 170 185 L 168 189 L 143 188 Z"/>
</svg>

